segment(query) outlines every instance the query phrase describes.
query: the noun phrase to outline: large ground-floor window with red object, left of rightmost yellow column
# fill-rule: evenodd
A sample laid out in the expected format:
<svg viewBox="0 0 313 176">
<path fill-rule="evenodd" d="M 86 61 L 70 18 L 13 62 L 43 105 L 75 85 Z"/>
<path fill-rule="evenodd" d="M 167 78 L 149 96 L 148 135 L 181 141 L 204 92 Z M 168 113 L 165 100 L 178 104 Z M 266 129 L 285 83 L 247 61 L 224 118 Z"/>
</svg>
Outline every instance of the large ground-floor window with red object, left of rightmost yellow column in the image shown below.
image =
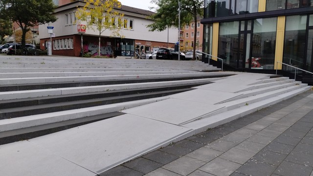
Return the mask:
<svg viewBox="0 0 313 176">
<path fill-rule="evenodd" d="M 253 22 L 251 68 L 274 69 L 277 18 Z"/>
</svg>

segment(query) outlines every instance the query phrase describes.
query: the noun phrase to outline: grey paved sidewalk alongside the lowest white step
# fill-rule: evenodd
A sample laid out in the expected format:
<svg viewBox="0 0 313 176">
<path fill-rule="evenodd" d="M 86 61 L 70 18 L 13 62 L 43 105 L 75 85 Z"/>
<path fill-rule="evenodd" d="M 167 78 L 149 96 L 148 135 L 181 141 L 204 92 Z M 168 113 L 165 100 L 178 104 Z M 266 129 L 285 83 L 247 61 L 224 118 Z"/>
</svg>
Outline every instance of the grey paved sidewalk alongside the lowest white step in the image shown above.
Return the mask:
<svg viewBox="0 0 313 176">
<path fill-rule="evenodd" d="M 313 176 L 313 91 L 99 175 Z"/>
</svg>

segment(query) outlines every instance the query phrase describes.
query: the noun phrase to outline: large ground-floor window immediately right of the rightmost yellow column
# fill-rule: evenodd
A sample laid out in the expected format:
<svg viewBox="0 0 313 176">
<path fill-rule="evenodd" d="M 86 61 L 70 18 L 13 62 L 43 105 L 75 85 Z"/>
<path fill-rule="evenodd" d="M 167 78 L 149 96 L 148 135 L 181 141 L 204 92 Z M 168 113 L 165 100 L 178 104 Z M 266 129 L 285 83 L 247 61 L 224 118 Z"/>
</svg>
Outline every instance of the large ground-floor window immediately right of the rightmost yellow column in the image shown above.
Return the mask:
<svg viewBox="0 0 313 176">
<path fill-rule="evenodd" d="M 303 68 L 307 15 L 286 17 L 283 62 Z"/>
</svg>

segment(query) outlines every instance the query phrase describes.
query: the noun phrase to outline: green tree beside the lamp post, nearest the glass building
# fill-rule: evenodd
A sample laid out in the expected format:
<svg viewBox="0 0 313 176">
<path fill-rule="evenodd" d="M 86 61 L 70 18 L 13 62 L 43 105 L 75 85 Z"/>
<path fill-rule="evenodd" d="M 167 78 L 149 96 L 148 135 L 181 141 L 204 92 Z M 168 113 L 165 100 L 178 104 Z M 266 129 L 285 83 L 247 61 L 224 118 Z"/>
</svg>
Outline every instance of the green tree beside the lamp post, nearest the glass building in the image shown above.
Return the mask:
<svg viewBox="0 0 313 176">
<path fill-rule="evenodd" d="M 150 31 L 163 31 L 168 26 L 179 27 L 179 5 L 180 1 L 180 29 L 181 26 L 189 24 L 194 21 L 197 24 L 197 17 L 203 16 L 203 0 L 151 0 L 158 7 L 156 14 L 151 16 L 155 22 L 149 24 Z M 194 27 L 194 47 L 193 59 L 196 56 L 196 40 L 197 40 L 197 27 Z"/>
</svg>

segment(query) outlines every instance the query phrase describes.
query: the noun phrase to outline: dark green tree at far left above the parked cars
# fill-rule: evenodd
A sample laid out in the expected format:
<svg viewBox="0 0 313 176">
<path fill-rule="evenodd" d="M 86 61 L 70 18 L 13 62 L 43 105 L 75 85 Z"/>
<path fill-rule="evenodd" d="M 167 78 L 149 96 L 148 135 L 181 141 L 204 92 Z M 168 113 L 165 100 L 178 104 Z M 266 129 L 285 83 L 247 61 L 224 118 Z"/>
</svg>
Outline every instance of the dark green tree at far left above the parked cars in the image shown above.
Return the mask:
<svg viewBox="0 0 313 176">
<path fill-rule="evenodd" d="M 21 27 L 24 47 L 25 36 L 30 27 L 57 21 L 52 14 L 55 8 L 52 0 L 1 0 L 0 16 L 6 16 Z"/>
</svg>

